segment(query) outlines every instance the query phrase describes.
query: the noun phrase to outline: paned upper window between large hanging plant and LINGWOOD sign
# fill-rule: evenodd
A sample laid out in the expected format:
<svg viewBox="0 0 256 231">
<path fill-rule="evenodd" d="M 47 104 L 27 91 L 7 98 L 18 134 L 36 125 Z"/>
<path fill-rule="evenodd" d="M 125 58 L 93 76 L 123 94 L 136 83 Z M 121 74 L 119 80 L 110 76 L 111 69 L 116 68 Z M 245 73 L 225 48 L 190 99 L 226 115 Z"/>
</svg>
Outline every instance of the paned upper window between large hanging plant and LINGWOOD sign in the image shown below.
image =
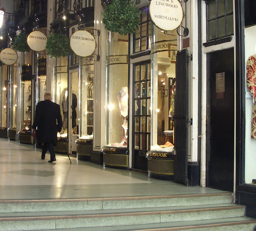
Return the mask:
<svg viewBox="0 0 256 231">
<path fill-rule="evenodd" d="M 150 31 L 151 21 L 149 18 L 149 12 L 148 9 L 143 9 L 140 14 L 139 28 L 133 35 L 133 53 L 138 53 L 150 49 Z"/>
</svg>

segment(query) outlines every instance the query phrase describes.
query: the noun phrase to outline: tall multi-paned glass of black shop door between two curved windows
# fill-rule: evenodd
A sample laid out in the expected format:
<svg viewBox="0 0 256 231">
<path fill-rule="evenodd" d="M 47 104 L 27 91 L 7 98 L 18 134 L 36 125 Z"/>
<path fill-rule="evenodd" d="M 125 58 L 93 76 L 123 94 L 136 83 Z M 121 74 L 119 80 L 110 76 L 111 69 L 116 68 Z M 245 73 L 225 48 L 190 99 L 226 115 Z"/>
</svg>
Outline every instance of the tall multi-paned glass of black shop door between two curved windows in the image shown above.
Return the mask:
<svg viewBox="0 0 256 231">
<path fill-rule="evenodd" d="M 139 63 L 134 65 L 133 76 L 134 148 L 150 150 L 151 64 Z"/>
</svg>

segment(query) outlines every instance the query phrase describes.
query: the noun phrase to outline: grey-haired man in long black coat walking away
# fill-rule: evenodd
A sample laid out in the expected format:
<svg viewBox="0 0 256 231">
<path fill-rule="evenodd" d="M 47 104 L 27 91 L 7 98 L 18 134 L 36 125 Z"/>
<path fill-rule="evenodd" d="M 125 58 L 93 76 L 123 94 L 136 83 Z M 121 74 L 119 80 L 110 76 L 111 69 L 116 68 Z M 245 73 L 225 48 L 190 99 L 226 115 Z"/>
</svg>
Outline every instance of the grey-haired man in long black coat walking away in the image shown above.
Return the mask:
<svg viewBox="0 0 256 231">
<path fill-rule="evenodd" d="M 47 150 L 50 152 L 50 160 L 56 161 L 53 146 L 57 145 L 57 132 L 62 128 L 62 117 L 60 106 L 52 102 L 52 95 L 49 92 L 44 94 L 44 101 L 40 101 L 36 106 L 35 120 L 32 129 L 37 127 L 37 143 L 44 143 L 41 159 L 44 160 Z"/>
</svg>

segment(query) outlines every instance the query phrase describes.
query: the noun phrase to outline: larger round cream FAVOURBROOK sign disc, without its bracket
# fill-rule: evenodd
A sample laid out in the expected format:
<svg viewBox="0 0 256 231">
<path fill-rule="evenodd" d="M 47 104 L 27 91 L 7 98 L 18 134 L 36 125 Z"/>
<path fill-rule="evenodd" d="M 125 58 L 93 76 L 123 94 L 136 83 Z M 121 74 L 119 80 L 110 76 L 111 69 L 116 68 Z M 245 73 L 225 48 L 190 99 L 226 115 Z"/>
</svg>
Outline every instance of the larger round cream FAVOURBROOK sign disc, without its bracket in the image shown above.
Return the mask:
<svg viewBox="0 0 256 231">
<path fill-rule="evenodd" d="M 70 37 L 70 47 L 76 55 L 90 56 L 96 49 L 95 38 L 86 30 L 77 30 Z"/>
</svg>

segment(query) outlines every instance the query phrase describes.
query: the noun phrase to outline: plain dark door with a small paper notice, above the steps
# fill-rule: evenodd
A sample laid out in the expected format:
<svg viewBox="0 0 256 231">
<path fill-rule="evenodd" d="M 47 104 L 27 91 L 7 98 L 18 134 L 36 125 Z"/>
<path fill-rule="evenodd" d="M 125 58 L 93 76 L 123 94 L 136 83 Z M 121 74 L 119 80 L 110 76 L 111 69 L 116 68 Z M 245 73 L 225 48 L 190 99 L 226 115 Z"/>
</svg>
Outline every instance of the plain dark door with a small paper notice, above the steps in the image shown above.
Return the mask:
<svg viewBox="0 0 256 231">
<path fill-rule="evenodd" d="M 206 187 L 233 191 L 234 49 L 207 55 Z"/>
</svg>

